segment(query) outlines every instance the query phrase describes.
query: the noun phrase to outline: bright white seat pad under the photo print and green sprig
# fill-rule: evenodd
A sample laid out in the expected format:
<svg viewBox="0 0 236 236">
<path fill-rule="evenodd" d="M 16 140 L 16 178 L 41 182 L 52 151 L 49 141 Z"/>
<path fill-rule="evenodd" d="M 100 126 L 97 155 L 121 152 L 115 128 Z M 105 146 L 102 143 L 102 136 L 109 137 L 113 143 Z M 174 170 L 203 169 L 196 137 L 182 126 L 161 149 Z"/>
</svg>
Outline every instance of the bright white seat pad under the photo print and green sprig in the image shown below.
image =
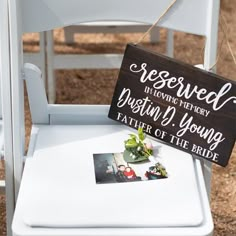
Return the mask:
<svg viewBox="0 0 236 236">
<path fill-rule="evenodd" d="M 97 184 L 94 154 L 120 153 L 122 125 L 40 126 L 26 161 L 21 214 L 30 227 L 194 227 L 204 220 L 191 155 L 152 141 L 168 178 Z"/>
</svg>

